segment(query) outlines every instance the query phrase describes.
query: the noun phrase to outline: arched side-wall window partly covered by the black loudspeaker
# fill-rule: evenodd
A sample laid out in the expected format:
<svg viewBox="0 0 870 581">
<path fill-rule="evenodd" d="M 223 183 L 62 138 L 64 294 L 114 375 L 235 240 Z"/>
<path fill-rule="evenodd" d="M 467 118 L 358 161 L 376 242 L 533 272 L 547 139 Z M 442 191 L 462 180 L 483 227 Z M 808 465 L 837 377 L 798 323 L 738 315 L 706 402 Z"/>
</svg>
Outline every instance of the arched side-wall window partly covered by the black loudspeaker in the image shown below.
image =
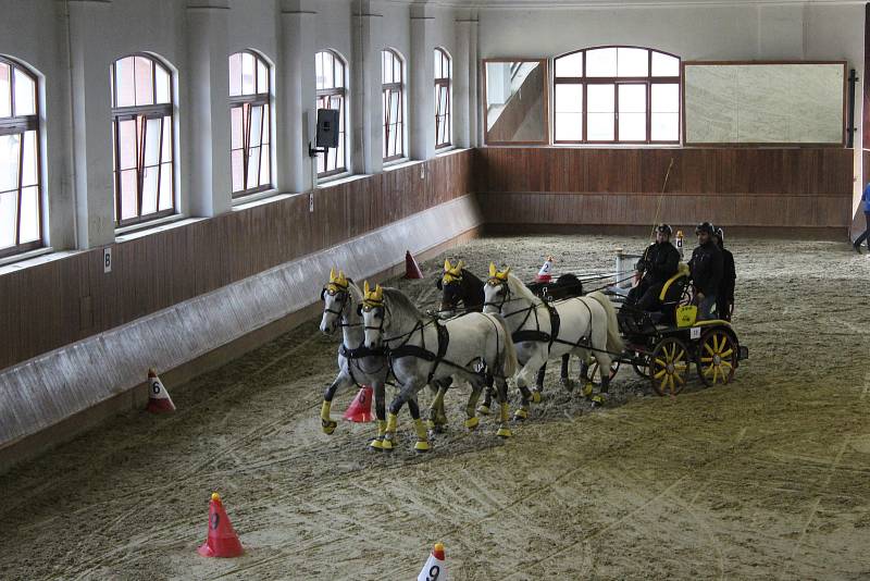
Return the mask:
<svg viewBox="0 0 870 581">
<path fill-rule="evenodd" d="M 330 149 L 327 156 L 318 153 L 318 177 L 326 177 L 347 171 L 345 159 L 347 66 L 337 52 L 323 50 L 314 55 L 314 72 L 318 90 L 316 109 L 338 110 L 338 148 Z"/>
</svg>

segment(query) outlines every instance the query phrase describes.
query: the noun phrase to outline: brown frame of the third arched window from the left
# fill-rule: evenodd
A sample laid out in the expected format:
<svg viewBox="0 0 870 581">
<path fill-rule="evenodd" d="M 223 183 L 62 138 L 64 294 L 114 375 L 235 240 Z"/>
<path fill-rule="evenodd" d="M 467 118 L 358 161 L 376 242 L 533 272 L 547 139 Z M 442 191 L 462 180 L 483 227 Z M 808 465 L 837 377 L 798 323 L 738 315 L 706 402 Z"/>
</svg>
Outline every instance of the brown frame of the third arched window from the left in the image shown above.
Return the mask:
<svg viewBox="0 0 870 581">
<path fill-rule="evenodd" d="M 245 49 L 239 50 L 238 52 L 234 52 L 229 57 L 227 57 L 227 66 L 228 61 L 236 54 L 250 54 L 253 57 L 253 87 L 254 92 L 252 94 L 245 94 L 244 90 L 239 95 L 229 96 L 229 195 L 233 199 L 244 198 L 246 196 L 251 196 L 253 194 L 259 194 L 261 191 L 268 191 L 275 187 L 274 185 L 274 164 L 272 163 L 272 143 L 273 143 L 273 131 L 272 131 L 272 66 L 270 62 L 259 52 Z M 258 66 L 260 63 L 265 66 L 265 74 L 266 74 L 266 91 L 259 92 L 259 74 L 260 67 Z M 241 63 L 239 63 L 241 66 Z M 266 115 L 261 115 L 260 119 L 260 165 L 258 166 L 258 172 L 262 171 L 262 148 L 263 148 L 263 127 L 269 127 L 269 143 L 266 144 L 269 148 L 269 183 L 257 185 L 252 188 L 245 188 L 238 191 L 233 190 L 233 110 L 234 109 L 241 109 L 241 151 L 243 151 L 243 159 L 244 163 L 241 165 L 241 183 L 247 186 L 248 185 L 248 173 L 249 173 L 249 163 L 250 163 L 250 121 L 251 115 L 254 107 L 258 106 L 265 106 Z M 259 182 L 259 180 L 258 180 Z"/>
</svg>

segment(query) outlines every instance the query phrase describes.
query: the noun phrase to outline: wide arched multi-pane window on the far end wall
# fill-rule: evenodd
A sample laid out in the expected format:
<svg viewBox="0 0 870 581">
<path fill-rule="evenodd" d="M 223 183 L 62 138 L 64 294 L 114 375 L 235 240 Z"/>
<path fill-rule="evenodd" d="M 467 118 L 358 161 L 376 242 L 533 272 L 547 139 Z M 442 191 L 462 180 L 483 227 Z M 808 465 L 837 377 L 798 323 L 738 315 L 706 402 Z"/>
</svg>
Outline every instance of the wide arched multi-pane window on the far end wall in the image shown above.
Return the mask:
<svg viewBox="0 0 870 581">
<path fill-rule="evenodd" d="M 680 141 L 680 59 L 596 47 L 554 60 L 557 144 Z"/>
</svg>

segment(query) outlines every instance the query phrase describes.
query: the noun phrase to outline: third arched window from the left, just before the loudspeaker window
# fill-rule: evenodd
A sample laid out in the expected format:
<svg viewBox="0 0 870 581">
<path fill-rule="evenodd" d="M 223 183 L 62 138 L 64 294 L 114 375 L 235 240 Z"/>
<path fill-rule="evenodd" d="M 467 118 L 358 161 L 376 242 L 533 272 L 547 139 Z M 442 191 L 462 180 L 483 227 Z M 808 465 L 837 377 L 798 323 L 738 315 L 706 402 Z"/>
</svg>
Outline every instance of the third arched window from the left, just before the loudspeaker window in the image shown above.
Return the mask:
<svg viewBox="0 0 870 581">
<path fill-rule="evenodd" d="M 233 197 L 272 187 L 269 63 L 250 50 L 229 55 Z"/>
</svg>

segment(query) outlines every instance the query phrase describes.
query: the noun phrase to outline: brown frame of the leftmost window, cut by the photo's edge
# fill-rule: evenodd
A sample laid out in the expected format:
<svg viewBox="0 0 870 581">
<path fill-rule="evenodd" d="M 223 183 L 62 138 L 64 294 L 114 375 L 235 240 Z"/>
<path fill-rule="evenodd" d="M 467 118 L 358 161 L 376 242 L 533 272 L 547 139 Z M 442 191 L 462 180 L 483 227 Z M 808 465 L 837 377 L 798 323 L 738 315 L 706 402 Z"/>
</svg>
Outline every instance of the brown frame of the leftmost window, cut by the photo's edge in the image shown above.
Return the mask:
<svg viewBox="0 0 870 581">
<path fill-rule="evenodd" d="M 17 170 L 17 200 L 15 208 L 15 244 L 7 248 L 0 249 L 0 259 L 14 255 L 21 255 L 30 250 L 42 248 L 45 244 L 45 200 L 42 199 L 42 141 L 39 119 L 41 110 L 39 107 L 39 75 L 30 71 L 24 64 L 0 55 L 0 63 L 9 66 L 9 91 L 10 91 L 10 113 L 11 116 L 0 118 L 0 135 L 20 135 L 18 140 L 18 170 Z M 29 115 L 15 115 L 15 70 L 21 71 L 27 75 L 34 83 L 34 112 Z M 22 196 L 25 187 L 34 187 L 33 185 L 22 185 L 24 175 L 24 134 L 34 132 L 34 140 L 36 146 L 36 199 L 37 199 L 37 232 L 38 237 L 35 240 L 21 243 L 21 213 L 22 213 Z"/>
</svg>

